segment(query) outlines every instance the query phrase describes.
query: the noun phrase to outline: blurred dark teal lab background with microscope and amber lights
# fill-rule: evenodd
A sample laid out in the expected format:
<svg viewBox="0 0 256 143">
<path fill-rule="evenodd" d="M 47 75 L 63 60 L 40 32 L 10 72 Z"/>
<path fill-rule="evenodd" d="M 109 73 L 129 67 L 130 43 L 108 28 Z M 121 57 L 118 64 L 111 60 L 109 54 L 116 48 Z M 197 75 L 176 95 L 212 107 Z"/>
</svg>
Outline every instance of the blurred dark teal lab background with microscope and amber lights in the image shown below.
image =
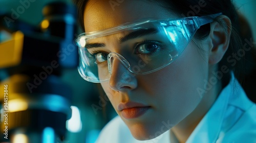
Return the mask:
<svg viewBox="0 0 256 143">
<path fill-rule="evenodd" d="M 234 3 L 248 20 L 256 41 L 256 1 Z M 116 116 L 108 99 L 98 90 L 99 85 L 83 80 L 78 74 L 74 38 L 81 30 L 76 16 L 71 0 L 0 0 L 0 20 L 3 25 L 7 24 L 7 27 L 0 24 L 1 88 L 9 86 L 8 105 L 16 105 L 13 112 L 20 112 L 8 114 L 9 135 L 19 139 L 19 134 L 27 134 L 36 139 L 50 136 L 55 142 L 91 143 Z M 8 40 L 9 43 L 2 44 Z M 24 47 L 18 46 L 22 44 Z M 10 46 L 13 52 L 8 52 L 16 54 L 6 54 L 5 48 Z M 31 56 L 38 51 L 40 55 Z M 0 91 L 4 93 L 3 89 Z M 3 98 L 0 97 L 2 103 Z M 20 122 L 12 121 L 14 118 L 20 118 Z M 50 128 L 46 128 L 48 126 Z M 4 129 L 2 124 L 1 131 Z M 4 136 L 0 142 L 6 141 Z"/>
</svg>

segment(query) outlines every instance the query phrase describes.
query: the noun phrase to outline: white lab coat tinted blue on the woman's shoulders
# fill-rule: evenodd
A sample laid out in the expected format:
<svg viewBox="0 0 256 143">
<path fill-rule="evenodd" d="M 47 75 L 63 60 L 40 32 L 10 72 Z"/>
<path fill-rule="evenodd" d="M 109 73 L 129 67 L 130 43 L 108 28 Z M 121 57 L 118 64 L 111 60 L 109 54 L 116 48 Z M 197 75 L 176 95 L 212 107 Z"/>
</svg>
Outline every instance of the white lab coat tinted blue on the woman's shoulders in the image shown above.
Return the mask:
<svg viewBox="0 0 256 143">
<path fill-rule="evenodd" d="M 172 143 L 177 140 L 170 130 L 151 140 L 136 140 L 117 116 L 103 128 L 96 142 Z M 232 77 L 186 142 L 256 142 L 256 105 L 236 79 Z"/>
</svg>

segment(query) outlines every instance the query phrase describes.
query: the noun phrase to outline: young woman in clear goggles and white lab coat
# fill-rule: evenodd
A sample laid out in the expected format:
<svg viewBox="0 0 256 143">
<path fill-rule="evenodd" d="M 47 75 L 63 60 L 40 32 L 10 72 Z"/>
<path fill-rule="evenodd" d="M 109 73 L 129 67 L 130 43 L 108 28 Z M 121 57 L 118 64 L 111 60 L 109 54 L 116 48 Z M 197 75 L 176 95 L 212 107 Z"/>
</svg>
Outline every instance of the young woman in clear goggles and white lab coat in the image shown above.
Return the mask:
<svg viewBox="0 0 256 143">
<path fill-rule="evenodd" d="M 119 115 L 98 142 L 256 141 L 256 106 L 235 78 L 244 55 L 230 1 L 76 3 L 79 73 Z"/>
</svg>

